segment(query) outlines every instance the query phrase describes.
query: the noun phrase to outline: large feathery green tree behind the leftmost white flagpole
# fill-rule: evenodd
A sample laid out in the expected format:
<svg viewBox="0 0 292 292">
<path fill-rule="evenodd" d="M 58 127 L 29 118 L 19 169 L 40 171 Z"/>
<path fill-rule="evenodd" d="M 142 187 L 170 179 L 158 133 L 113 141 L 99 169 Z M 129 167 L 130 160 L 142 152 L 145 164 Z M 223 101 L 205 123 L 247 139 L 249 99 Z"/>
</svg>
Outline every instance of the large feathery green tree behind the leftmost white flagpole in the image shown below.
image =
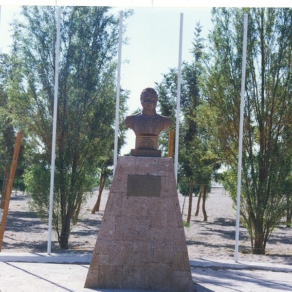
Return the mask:
<svg viewBox="0 0 292 292">
<path fill-rule="evenodd" d="M 38 142 L 27 189 L 47 218 L 54 104 L 56 8 L 22 7 L 14 23 L 10 104 L 19 127 Z M 127 16 L 127 15 L 126 15 Z M 113 148 L 118 17 L 110 7 L 61 8 L 53 222 L 60 248 L 97 183 L 99 159 Z M 127 92 L 121 96 L 121 115 Z M 123 144 L 121 128 L 120 146 Z"/>
</svg>

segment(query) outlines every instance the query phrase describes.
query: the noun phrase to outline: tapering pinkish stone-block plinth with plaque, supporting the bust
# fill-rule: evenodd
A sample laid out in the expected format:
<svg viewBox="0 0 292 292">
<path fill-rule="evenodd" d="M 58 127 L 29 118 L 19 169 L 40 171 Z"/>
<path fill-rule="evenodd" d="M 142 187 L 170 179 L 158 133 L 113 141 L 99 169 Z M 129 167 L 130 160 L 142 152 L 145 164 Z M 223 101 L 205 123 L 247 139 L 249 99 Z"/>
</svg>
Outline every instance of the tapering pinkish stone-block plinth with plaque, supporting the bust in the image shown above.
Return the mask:
<svg viewBox="0 0 292 292">
<path fill-rule="evenodd" d="M 171 158 L 119 157 L 85 287 L 194 291 Z"/>
</svg>

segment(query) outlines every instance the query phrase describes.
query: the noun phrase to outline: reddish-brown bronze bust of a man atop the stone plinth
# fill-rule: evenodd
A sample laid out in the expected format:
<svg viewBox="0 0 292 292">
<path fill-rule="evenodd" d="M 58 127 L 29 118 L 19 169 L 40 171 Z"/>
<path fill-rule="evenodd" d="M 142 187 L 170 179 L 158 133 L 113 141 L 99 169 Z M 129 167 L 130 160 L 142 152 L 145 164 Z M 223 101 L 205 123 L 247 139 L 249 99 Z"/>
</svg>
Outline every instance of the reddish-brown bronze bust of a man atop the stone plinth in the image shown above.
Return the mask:
<svg viewBox="0 0 292 292">
<path fill-rule="evenodd" d="M 140 95 L 142 112 L 126 117 L 125 124 L 136 134 L 133 156 L 161 156 L 157 150 L 158 135 L 172 124 L 171 117 L 156 113 L 158 101 L 157 92 L 153 88 L 146 88 Z"/>
</svg>

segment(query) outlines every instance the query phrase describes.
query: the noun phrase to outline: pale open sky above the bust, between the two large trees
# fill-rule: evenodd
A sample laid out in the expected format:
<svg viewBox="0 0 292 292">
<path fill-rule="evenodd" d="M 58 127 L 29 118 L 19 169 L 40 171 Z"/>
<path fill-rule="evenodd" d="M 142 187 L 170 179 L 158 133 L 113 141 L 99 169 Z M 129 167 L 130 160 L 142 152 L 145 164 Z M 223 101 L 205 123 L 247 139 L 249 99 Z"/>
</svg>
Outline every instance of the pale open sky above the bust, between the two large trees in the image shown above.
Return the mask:
<svg viewBox="0 0 292 292">
<path fill-rule="evenodd" d="M 125 21 L 129 43 L 122 49 L 121 85 L 135 97 L 131 110 L 139 106 L 140 92 L 154 87 L 169 68 L 178 67 L 180 14 L 183 13 L 183 60 L 190 60 L 196 23 L 206 37 L 211 28 L 209 8 L 136 8 Z"/>
</svg>

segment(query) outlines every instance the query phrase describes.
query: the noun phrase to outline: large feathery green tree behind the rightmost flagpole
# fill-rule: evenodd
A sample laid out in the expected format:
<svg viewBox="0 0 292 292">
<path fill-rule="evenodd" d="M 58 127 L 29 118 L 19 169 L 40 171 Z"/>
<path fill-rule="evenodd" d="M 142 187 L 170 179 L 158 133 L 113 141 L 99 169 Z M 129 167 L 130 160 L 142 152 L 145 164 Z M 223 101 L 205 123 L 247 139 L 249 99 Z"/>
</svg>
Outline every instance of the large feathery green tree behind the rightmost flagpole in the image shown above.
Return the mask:
<svg viewBox="0 0 292 292">
<path fill-rule="evenodd" d="M 283 186 L 291 170 L 291 9 L 213 9 L 204 84 L 212 115 L 205 124 L 228 166 L 224 183 L 236 201 L 244 13 L 249 18 L 240 214 L 253 254 L 265 254 L 286 209 Z"/>
</svg>

